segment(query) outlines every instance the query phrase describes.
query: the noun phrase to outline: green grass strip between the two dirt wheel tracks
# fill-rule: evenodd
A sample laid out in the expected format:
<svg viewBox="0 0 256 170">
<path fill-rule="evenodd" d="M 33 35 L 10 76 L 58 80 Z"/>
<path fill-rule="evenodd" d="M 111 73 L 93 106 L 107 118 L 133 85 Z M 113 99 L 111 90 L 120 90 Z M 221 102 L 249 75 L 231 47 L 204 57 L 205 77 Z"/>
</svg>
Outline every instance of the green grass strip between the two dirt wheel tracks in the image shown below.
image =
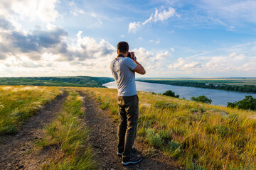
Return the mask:
<svg viewBox="0 0 256 170">
<path fill-rule="evenodd" d="M 82 98 L 75 91 L 70 91 L 63 106 L 63 111 L 46 127 L 46 137 L 38 141 L 41 149 L 58 146 L 61 152 L 56 152 L 55 157 L 60 157 L 60 160 L 53 158 L 43 169 L 96 169 L 88 145 L 89 130 L 82 123 L 85 112 Z"/>
</svg>

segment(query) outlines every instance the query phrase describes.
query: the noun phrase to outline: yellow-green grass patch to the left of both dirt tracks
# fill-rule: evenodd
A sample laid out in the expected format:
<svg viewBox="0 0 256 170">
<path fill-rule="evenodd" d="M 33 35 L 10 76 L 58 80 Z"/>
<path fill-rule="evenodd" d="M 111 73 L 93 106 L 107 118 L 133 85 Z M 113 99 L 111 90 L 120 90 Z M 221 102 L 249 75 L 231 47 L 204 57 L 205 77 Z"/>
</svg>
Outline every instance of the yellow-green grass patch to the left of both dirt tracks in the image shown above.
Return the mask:
<svg viewBox="0 0 256 170">
<path fill-rule="evenodd" d="M 23 120 L 61 93 L 56 87 L 0 86 L 0 134 L 16 132 Z"/>
</svg>

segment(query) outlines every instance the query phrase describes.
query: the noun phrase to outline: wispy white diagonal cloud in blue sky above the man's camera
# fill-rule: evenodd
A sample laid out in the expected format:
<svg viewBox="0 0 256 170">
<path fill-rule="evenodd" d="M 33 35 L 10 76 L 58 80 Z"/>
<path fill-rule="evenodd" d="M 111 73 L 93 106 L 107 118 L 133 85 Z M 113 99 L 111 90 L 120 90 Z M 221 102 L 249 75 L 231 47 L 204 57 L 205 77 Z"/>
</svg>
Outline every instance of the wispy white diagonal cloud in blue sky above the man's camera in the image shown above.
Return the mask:
<svg viewBox="0 0 256 170">
<path fill-rule="evenodd" d="M 138 28 L 141 28 L 142 26 L 145 26 L 146 24 L 151 22 L 157 22 L 157 21 L 164 22 L 169 18 L 171 18 L 172 16 L 174 16 L 174 13 L 175 13 L 175 9 L 171 7 L 169 7 L 167 11 L 166 9 L 164 9 L 164 11 L 161 11 L 161 12 L 159 12 L 159 10 L 155 8 L 154 15 L 152 13 L 151 16 L 148 19 L 146 19 L 144 22 L 139 21 L 139 22 L 129 23 L 128 32 L 136 33 L 136 30 Z"/>
</svg>

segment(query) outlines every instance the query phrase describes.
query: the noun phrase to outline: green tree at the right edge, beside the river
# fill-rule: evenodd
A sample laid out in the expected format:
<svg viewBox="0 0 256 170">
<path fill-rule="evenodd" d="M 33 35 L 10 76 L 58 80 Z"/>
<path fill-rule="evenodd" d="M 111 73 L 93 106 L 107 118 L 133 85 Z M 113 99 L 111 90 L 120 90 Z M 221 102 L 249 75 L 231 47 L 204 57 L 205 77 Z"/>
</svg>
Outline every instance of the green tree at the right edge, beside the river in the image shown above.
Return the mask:
<svg viewBox="0 0 256 170">
<path fill-rule="evenodd" d="M 245 96 L 242 101 L 235 101 L 233 103 L 228 102 L 228 106 L 230 108 L 240 108 L 245 110 L 256 111 L 256 98 L 252 96 Z"/>
</svg>

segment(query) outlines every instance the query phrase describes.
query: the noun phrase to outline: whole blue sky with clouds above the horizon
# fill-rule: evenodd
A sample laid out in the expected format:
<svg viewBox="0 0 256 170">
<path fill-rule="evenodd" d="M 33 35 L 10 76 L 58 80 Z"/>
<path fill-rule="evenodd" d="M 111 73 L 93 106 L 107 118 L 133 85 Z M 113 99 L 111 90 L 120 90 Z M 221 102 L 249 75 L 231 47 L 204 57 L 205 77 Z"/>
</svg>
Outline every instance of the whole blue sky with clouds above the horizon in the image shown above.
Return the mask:
<svg viewBox="0 0 256 170">
<path fill-rule="evenodd" d="M 1 0 L 0 77 L 112 77 L 127 41 L 137 77 L 256 77 L 255 0 Z"/>
</svg>

